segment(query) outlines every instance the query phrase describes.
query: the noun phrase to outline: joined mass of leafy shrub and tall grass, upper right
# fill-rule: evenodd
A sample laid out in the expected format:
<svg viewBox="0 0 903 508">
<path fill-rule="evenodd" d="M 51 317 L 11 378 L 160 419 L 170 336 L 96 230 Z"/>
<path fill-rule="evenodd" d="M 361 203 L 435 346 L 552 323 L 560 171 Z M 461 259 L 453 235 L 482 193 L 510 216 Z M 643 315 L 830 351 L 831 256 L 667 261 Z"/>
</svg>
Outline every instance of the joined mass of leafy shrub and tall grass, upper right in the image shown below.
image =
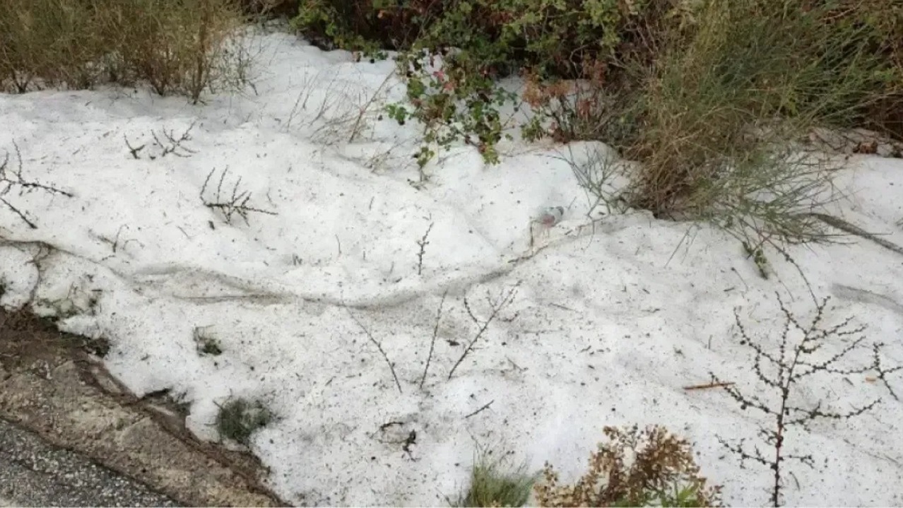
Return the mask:
<svg viewBox="0 0 903 508">
<path fill-rule="evenodd" d="M 903 137 L 901 20 L 878 0 L 303 0 L 293 22 L 325 48 L 399 51 L 407 100 L 387 113 L 423 125 L 422 166 L 452 143 L 493 163 L 512 137 L 600 141 L 641 163 L 599 199 L 755 250 L 829 237 L 807 212 L 838 165 L 806 150 L 813 129 Z"/>
</svg>

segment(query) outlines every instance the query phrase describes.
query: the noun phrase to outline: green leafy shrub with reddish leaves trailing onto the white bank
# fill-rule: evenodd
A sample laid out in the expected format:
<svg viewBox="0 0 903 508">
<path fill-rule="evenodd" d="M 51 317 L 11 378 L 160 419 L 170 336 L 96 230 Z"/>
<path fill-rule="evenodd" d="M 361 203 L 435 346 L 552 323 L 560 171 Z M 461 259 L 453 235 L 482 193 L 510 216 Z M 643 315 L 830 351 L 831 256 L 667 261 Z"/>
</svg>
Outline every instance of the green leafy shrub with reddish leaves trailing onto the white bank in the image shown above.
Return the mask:
<svg viewBox="0 0 903 508">
<path fill-rule="evenodd" d="M 582 78 L 586 70 L 617 81 L 619 61 L 651 60 L 655 32 L 679 0 L 307 0 L 295 25 L 316 40 L 356 51 L 388 48 L 407 79 L 406 104 L 388 114 L 424 125 L 421 166 L 434 147 L 463 141 L 487 162 L 508 125 L 500 107 L 517 96 L 498 78 L 529 71 L 539 80 Z M 591 62 L 591 65 L 588 65 Z M 529 125 L 535 138 L 540 125 Z"/>
</svg>

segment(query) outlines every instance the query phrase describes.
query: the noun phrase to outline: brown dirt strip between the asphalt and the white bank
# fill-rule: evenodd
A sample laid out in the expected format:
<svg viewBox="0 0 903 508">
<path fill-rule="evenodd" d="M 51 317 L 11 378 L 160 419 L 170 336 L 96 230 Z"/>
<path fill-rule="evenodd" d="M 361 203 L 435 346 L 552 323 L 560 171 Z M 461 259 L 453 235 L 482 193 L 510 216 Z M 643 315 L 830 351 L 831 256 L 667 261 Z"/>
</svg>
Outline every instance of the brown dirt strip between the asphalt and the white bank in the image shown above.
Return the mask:
<svg viewBox="0 0 903 508">
<path fill-rule="evenodd" d="M 251 454 L 195 439 L 165 393 L 138 399 L 103 366 L 108 345 L 0 309 L 0 415 L 186 505 L 284 505 Z"/>
</svg>

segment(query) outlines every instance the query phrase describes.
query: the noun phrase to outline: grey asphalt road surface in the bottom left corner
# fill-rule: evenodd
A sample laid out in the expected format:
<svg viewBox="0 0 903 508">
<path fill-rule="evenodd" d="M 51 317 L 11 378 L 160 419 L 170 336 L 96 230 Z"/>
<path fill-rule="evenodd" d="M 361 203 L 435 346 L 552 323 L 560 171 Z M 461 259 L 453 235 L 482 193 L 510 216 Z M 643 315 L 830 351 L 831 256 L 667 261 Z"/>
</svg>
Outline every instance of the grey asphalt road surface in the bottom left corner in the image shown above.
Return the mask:
<svg viewBox="0 0 903 508">
<path fill-rule="evenodd" d="M 179 506 L 0 419 L 0 506 Z"/>
</svg>

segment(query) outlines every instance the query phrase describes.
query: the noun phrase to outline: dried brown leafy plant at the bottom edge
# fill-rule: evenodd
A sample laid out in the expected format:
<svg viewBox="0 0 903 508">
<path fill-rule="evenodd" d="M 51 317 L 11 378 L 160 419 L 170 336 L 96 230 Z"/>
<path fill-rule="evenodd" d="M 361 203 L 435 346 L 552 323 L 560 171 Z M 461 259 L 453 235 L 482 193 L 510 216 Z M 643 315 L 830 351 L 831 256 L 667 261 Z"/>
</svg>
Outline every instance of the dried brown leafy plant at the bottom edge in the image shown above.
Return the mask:
<svg viewBox="0 0 903 508">
<path fill-rule="evenodd" d="M 574 485 L 559 485 L 545 465 L 534 493 L 540 506 L 720 506 L 721 486 L 699 475 L 685 439 L 661 426 L 606 427 L 607 443 L 590 455 Z"/>
</svg>

